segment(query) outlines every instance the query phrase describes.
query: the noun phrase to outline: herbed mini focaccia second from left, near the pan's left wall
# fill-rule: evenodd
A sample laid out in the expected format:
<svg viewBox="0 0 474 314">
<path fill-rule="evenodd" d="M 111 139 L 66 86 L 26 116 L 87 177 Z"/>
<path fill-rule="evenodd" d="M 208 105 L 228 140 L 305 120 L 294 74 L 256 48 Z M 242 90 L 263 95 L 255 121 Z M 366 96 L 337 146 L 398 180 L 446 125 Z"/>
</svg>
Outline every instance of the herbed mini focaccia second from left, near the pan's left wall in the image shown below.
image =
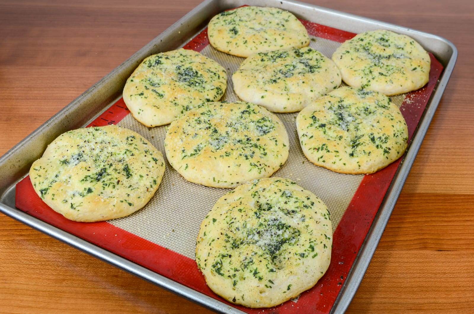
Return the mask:
<svg viewBox="0 0 474 314">
<path fill-rule="evenodd" d="M 178 49 L 147 57 L 128 78 L 123 100 L 147 127 L 171 123 L 202 102 L 218 101 L 227 87 L 226 70 L 199 52 Z"/>
</svg>

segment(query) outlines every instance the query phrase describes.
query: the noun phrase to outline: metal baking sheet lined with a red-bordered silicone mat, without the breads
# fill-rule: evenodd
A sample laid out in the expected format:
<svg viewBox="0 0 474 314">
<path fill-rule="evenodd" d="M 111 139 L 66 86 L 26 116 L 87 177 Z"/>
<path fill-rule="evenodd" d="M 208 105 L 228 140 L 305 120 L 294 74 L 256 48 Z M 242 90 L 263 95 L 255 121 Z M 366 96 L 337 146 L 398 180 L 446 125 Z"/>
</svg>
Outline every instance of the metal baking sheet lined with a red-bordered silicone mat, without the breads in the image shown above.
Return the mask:
<svg viewBox="0 0 474 314">
<path fill-rule="evenodd" d="M 296 302 L 290 301 L 292 303 L 288 303 L 286 306 L 283 305 L 279 307 L 279 311 L 285 312 L 288 309 L 299 309 L 301 311 L 305 308 L 305 306 L 314 305 L 312 308 L 317 309 L 319 312 L 329 312 L 331 311 L 331 308 L 333 312 L 340 312 L 343 311 L 349 304 L 358 284 L 360 283 L 360 280 L 365 273 L 376 244 L 382 235 L 383 228 L 388 221 L 396 198 L 400 193 L 406 175 L 408 174 L 413 159 L 416 156 L 419 145 L 421 144 L 421 140 L 426 133 L 429 121 L 434 114 L 434 110 L 438 105 L 439 98 L 441 97 L 447 80 L 449 79 L 449 75 L 452 72 L 452 68 L 456 61 L 456 48 L 451 43 L 442 38 L 293 1 L 204 1 L 201 3 L 201 5 L 192 10 L 188 15 L 174 24 L 171 28 L 166 30 L 160 36 L 156 37 L 150 44 L 137 52 L 137 54 L 133 55 L 124 64 L 120 65 L 111 74 L 106 76 L 90 90 L 85 92 L 78 99 L 64 108 L 63 111 L 60 111 L 57 115 L 55 115 L 55 117 L 47 121 L 45 125 L 38 128 L 29 137 L 23 140 L 20 143 L 21 145 L 17 145 L 0 159 L 0 178 L 4 179 L 4 184 L 0 186 L 0 209 L 2 212 L 22 222 L 25 222 L 36 229 L 44 231 L 55 238 L 58 238 L 59 240 L 63 240 L 64 242 L 67 242 L 78 249 L 82 249 L 93 256 L 108 261 L 119 268 L 125 269 L 139 277 L 154 282 L 159 286 L 163 286 L 169 290 L 172 290 L 173 292 L 185 296 L 192 301 L 200 303 L 201 305 L 222 312 L 237 311 L 235 308 L 222 303 L 221 301 L 223 300 L 219 299 L 219 297 L 217 300 L 210 297 L 212 296 L 212 293 L 203 290 L 206 287 L 202 286 L 203 279 L 199 278 L 199 273 L 196 275 L 195 283 L 188 283 L 187 286 L 185 286 L 186 282 L 183 282 L 183 280 L 178 278 L 179 274 L 173 275 L 171 273 L 164 273 L 166 277 L 176 280 L 172 281 L 149 270 L 153 269 L 153 266 L 159 268 L 161 265 L 161 267 L 165 267 L 165 261 L 163 262 L 164 264 L 156 262 L 156 259 L 163 259 L 164 255 L 168 256 L 167 259 L 171 258 L 173 263 L 175 263 L 176 259 L 178 259 L 182 263 L 178 263 L 179 267 L 182 267 L 183 269 L 193 267 L 196 268 L 192 259 L 194 241 L 199 224 L 202 217 L 212 207 L 214 201 L 227 191 L 225 189 L 207 188 L 187 183 L 182 178 L 180 178 L 168 164 L 163 183 L 158 189 L 158 192 L 152 202 L 150 202 L 146 208 L 137 212 L 136 214 L 122 219 L 110 221 L 109 225 L 113 227 L 110 227 L 111 229 L 109 226 L 104 228 L 103 225 L 97 223 L 90 231 L 84 231 L 81 228 L 78 229 L 78 227 L 68 226 L 68 223 L 71 222 L 61 221 L 61 217 L 53 217 L 54 219 L 52 219 L 50 217 L 51 210 L 48 208 L 38 209 L 40 213 L 32 212 L 32 214 L 35 214 L 36 217 L 42 217 L 44 221 L 48 221 L 52 225 L 59 226 L 65 230 L 68 230 L 69 228 L 69 233 L 57 229 L 50 224 L 46 224 L 45 222 L 32 216 L 26 215 L 24 212 L 20 212 L 18 209 L 13 207 L 15 206 L 15 193 L 18 194 L 22 191 L 22 189 L 28 188 L 27 183 L 29 180 L 21 181 L 21 183 L 18 185 L 19 188 L 17 189 L 15 189 L 15 184 L 25 176 L 31 162 L 41 156 L 42 152 L 46 148 L 46 145 L 57 135 L 66 130 L 87 125 L 88 120 L 91 121 L 92 116 L 95 118 L 93 119 L 92 123 L 118 123 L 118 125 L 134 129 L 150 140 L 155 145 L 155 147 L 163 151 L 162 145 L 165 127 L 152 129 L 143 127 L 128 114 L 125 109 L 125 105 L 120 100 L 117 101 L 117 99 L 120 98 L 120 92 L 123 88 L 126 78 L 145 56 L 159 51 L 175 49 L 179 46 L 183 46 L 183 44 L 186 43 L 188 43 L 187 48 L 201 50 L 201 53 L 208 55 L 228 68 L 228 74 L 230 78 L 230 74 L 232 74 L 233 71 L 237 69 L 243 58 L 233 57 L 217 52 L 212 47 L 207 45 L 207 37 L 205 36 L 205 33 L 201 32 L 201 30 L 205 27 L 207 21 L 216 13 L 224 9 L 235 8 L 244 4 L 274 6 L 280 7 L 282 9 L 288 9 L 296 14 L 299 18 L 318 23 L 312 24 L 309 22 L 304 22 L 305 26 L 309 29 L 310 34 L 312 34 L 312 37 L 316 39 L 315 41 L 311 41 L 310 46 L 315 47 L 327 56 L 330 56 L 336 49 L 336 47 L 339 45 L 339 42 L 341 41 L 341 38 L 343 39 L 345 36 L 350 37 L 351 32 L 386 28 L 414 37 L 425 47 L 425 49 L 433 53 L 433 57 L 436 56 L 436 58 L 445 67 L 444 72 L 439 77 L 439 82 L 437 82 L 437 80 L 431 82 L 430 88 L 434 88 L 434 92 L 429 93 L 431 94 L 431 99 L 429 102 L 429 94 L 422 94 L 421 92 L 415 92 L 412 94 L 410 93 L 411 95 L 408 96 L 402 95 L 394 98 L 394 101 L 399 105 L 402 103 L 404 104 L 404 107 L 402 107 L 402 112 L 404 112 L 404 110 L 408 110 L 412 113 L 411 115 L 407 114 L 406 118 L 413 116 L 417 118 L 416 121 L 413 120 L 411 122 L 410 128 L 410 136 L 413 136 L 414 134 L 415 136 L 411 140 L 410 148 L 407 151 L 401 166 L 399 166 L 398 163 L 394 163 L 386 168 L 386 170 L 383 170 L 376 175 L 340 175 L 311 165 L 308 161 L 306 161 L 306 158 L 302 155 L 301 149 L 299 148 L 296 132 L 294 129 L 294 117 L 296 114 L 279 114 L 279 117 L 283 120 L 289 132 L 292 141 L 292 149 L 287 163 L 275 175 L 289 177 L 320 196 L 331 209 L 334 230 L 337 230 L 336 226 L 338 224 L 340 225 L 339 221 L 341 219 L 346 219 L 346 223 L 350 220 L 358 220 L 359 223 L 363 225 L 361 225 L 362 227 L 359 230 L 360 243 L 358 243 L 357 249 L 351 253 L 352 256 L 346 257 L 340 254 L 338 255 L 337 252 L 334 252 L 334 249 L 337 249 L 337 247 L 333 247 L 333 259 L 339 259 L 337 260 L 337 263 L 343 263 L 338 265 L 344 265 L 344 262 L 347 263 L 345 267 L 343 267 L 345 272 L 343 274 L 343 279 L 337 279 L 334 281 L 336 277 L 339 278 L 340 273 L 337 273 L 337 276 L 335 276 L 336 273 L 333 272 L 331 274 L 332 277 L 326 276 L 329 277 L 329 280 L 324 282 L 321 280 L 316 288 L 316 290 L 319 289 L 318 291 L 326 288 L 326 290 L 324 290 L 325 293 L 327 292 L 326 296 L 317 296 L 315 292 L 316 290 L 313 289 L 314 291 L 312 293 L 304 293 Z M 334 28 L 336 28 L 336 30 Z M 181 36 L 178 34 L 181 34 Z M 198 35 L 196 36 L 196 34 Z M 237 99 L 233 93 L 232 82 L 230 79 L 228 81 L 228 90 L 224 96 L 224 99 L 228 101 Z M 427 109 L 425 111 L 424 108 L 417 108 L 419 107 L 419 103 L 422 102 L 427 105 Z M 110 107 L 110 103 L 113 103 L 112 107 Z M 101 111 L 104 111 L 105 109 L 107 111 L 102 113 Z M 423 115 L 423 111 L 425 112 L 424 116 L 418 124 L 418 120 Z M 410 125 L 409 119 L 407 119 L 407 122 Z M 415 133 L 417 126 L 418 131 Z M 303 163 L 305 161 L 306 165 Z M 387 172 L 390 171 L 392 171 L 392 175 L 387 174 Z M 395 176 L 393 177 L 393 175 Z M 382 177 L 389 179 L 381 180 Z M 331 186 L 331 189 L 327 189 L 327 186 Z M 379 189 L 383 192 L 383 194 L 385 194 L 385 191 L 387 191 L 387 193 L 384 200 L 383 197 L 377 200 L 371 200 L 364 197 L 362 199 L 360 197 L 356 197 L 356 199 L 354 199 L 356 189 L 361 190 L 358 191 L 360 192 L 360 195 L 364 195 L 364 189 L 367 191 Z M 198 204 L 198 206 L 194 206 L 193 210 L 191 211 L 189 211 L 190 191 L 192 191 L 191 195 L 193 202 Z M 160 200 L 166 200 L 166 196 L 169 196 L 171 193 L 174 193 L 173 199 L 178 200 L 177 202 L 169 204 L 159 202 Z M 177 197 L 180 193 L 182 193 L 181 197 Z M 22 201 L 23 205 L 25 205 L 25 202 L 30 202 L 28 204 L 36 202 L 34 199 L 30 199 L 34 198 L 36 194 L 30 195 L 30 198 L 26 197 L 26 194 L 18 195 L 21 195 L 21 200 L 20 197 L 18 197 L 17 203 L 21 203 L 20 201 Z M 380 202 L 382 201 L 383 203 L 379 209 Z M 374 207 L 373 212 L 360 212 L 362 207 L 365 207 L 366 204 L 371 202 Z M 164 211 L 163 208 L 167 208 L 168 211 Z M 347 209 L 350 210 L 349 213 L 345 215 Z M 43 211 L 43 213 L 41 213 L 41 211 Z M 159 211 L 159 215 L 156 214 L 156 211 Z M 180 215 L 181 218 L 177 219 L 177 215 L 174 214 L 176 211 L 181 211 L 180 213 L 184 214 L 184 216 Z M 361 214 L 368 215 L 370 219 L 364 220 L 364 218 L 361 217 Z M 370 230 L 369 227 L 371 227 Z M 98 229 L 96 230 L 93 228 Z M 118 235 L 114 234 L 114 231 L 117 230 L 114 228 L 125 230 L 128 233 Z M 338 229 L 340 230 L 343 228 Z M 108 240 L 100 240 L 97 237 L 94 238 L 93 236 L 87 236 L 87 232 L 95 232 L 92 230 L 102 232 L 102 238 Z M 368 236 L 365 237 L 367 231 L 369 231 L 369 233 Z M 335 233 L 334 236 L 336 243 L 337 239 L 342 242 L 344 236 L 347 236 L 347 234 L 343 234 L 343 231 L 339 232 L 342 232 L 340 236 L 338 236 L 337 233 Z M 109 234 L 107 235 L 107 233 Z M 81 240 L 78 238 L 78 236 L 88 239 L 89 242 Z M 109 238 L 107 238 L 107 236 L 109 236 Z M 122 238 L 118 239 L 117 236 Z M 141 240 L 137 241 L 134 237 L 145 239 L 146 242 Z M 366 239 L 366 242 L 364 245 L 362 245 L 362 241 L 364 241 L 364 239 Z M 120 248 L 114 247 L 114 243 L 117 244 L 120 242 L 122 243 Z M 107 250 L 101 249 L 92 243 L 98 244 L 100 247 L 106 247 Z M 168 251 L 157 249 L 155 251 L 155 254 L 157 254 L 155 256 L 156 259 L 149 261 L 149 263 L 154 264 L 152 267 L 150 267 L 143 261 L 143 259 L 140 260 L 135 256 L 124 254 L 123 243 L 126 243 L 125 246 L 127 246 L 127 249 L 133 249 L 131 247 L 134 245 L 141 245 L 142 247 L 140 247 L 140 249 L 150 249 L 150 246 L 153 247 L 153 245 L 158 245 L 161 248 L 171 250 L 173 254 L 177 255 L 175 256 L 171 253 L 168 253 Z M 128 260 L 123 259 L 114 253 L 125 256 Z M 348 254 L 347 248 L 343 253 L 346 255 Z M 358 258 L 353 264 L 352 261 L 354 261 L 357 254 Z M 171 255 L 171 257 L 169 255 Z M 149 258 L 151 259 L 153 256 L 153 254 L 150 254 Z M 343 260 L 342 258 L 346 259 Z M 148 269 L 139 266 L 138 264 L 145 265 Z M 349 273 L 351 270 L 351 265 L 353 265 L 352 271 Z M 338 271 L 341 270 L 339 269 Z M 330 271 L 328 271 L 328 273 L 330 273 Z M 177 281 L 184 283 L 185 285 L 182 285 Z M 319 287 L 320 284 L 321 287 Z M 189 286 L 191 286 L 193 289 L 201 290 L 201 292 L 204 292 L 204 294 L 189 288 Z M 208 296 L 205 295 L 206 293 Z M 336 297 L 338 298 L 337 300 Z M 328 302 L 328 300 L 331 302 Z M 332 304 L 334 304 L 334 306 L 331 306 Z M 245 311 L 247 310 L 244 307 L 239 307 L 239 309 Z"/>
</svg>

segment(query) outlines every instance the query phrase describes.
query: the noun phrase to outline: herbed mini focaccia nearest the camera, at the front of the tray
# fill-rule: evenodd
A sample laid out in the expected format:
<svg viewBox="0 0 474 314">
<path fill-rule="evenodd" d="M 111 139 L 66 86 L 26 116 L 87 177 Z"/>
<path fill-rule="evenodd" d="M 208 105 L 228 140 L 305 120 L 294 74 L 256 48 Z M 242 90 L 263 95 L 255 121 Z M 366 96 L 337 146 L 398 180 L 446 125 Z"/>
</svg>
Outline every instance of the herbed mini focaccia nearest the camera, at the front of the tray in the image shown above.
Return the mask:
<svg viewBox="0 0 474 314">
<path fill-rule="evenodd" d="M 222 196 L 201 223 L 196 263 L 229 302 L 271 307 L 316 285 L 329 267 L 326 205 L 288 179 L 265 178 Z"/>
</svg>

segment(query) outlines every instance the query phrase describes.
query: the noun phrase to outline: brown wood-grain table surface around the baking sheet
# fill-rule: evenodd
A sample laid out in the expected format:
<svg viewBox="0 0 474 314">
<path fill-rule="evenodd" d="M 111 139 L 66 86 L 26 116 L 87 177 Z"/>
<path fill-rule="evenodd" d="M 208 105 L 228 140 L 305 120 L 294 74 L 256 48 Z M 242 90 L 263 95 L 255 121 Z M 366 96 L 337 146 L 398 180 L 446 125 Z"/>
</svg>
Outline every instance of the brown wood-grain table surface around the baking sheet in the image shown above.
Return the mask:
<svg viewBox="0 0 474 314">
<path fill-rule="evenodd" d="M 0 155 L 201 0 L 0 2 Z M 451 40 L 456 68 L 350 313 L 474 312 L 474 2 L 306 0 Z M 0 214 L 1 313 L 207 310 Z"/>
</svg>

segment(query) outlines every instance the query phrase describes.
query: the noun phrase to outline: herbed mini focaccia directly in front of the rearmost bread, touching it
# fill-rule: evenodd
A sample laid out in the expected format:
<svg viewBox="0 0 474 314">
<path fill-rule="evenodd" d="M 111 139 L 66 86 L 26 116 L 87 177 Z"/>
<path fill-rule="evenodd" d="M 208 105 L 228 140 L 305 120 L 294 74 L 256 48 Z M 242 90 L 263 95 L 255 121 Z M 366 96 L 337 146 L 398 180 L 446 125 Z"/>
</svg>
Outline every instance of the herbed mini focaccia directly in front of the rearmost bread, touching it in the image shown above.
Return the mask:
<svg viewBox="0 0 474 314">
<path fill-rule="evenodd" d="M 232 75 L 240 99 L 273 112 L 300 111 L 341 84 L 336 64 L 310 47 L 262 52 Z"/>
</svg>

